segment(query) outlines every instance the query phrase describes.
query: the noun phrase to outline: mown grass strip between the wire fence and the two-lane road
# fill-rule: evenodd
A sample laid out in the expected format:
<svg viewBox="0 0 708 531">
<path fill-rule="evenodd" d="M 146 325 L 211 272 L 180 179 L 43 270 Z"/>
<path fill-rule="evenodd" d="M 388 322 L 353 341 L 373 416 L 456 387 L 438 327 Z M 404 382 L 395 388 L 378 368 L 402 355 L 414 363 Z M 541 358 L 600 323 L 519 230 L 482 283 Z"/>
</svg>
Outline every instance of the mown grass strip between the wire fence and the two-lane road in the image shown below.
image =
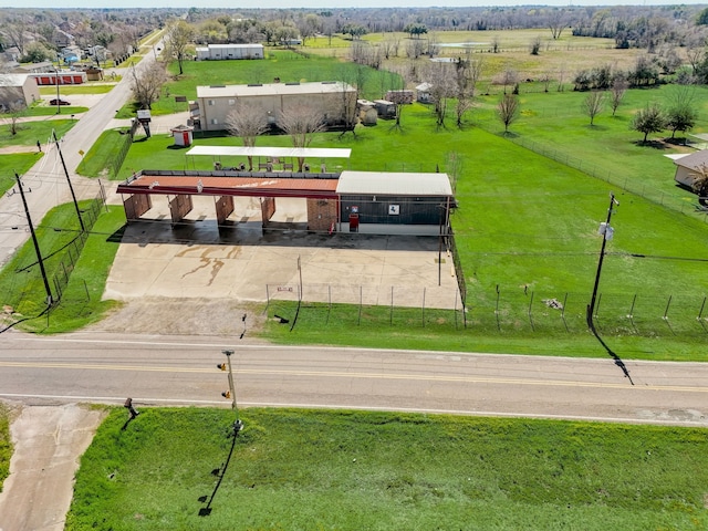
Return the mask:
<svg viewBox="0 0 708 531">
<path fill-rule="evenodd" d="M 590 333 L 584 314 L 560 312 L 537 315 L 532 323 L 522 306 L 518 314 L 501 316 L 493 309 L 467 327 L 460 311 L 410 308 L 364 306 L 347 304 L 272 302 L 259 335 L 284 345 L 362 346 L 368 348 L 407 348 L 440 352 L 483 352 L 564 357 L 606 357 L 607 352 Z M 298 314 L 295 321 L 295 314 Z M 279 315 L 288 323 L 280 323 Z M 292 326 L 293 322 L 295 325 Z M 625 360 L 706 361 L 706 331 L 693 322 L 693 333 L 676 334 L 667 323 L 659 323 L 644 334 L 617 332 L 598 320 L 598 331 L 608 346 Z"/>
</svg>

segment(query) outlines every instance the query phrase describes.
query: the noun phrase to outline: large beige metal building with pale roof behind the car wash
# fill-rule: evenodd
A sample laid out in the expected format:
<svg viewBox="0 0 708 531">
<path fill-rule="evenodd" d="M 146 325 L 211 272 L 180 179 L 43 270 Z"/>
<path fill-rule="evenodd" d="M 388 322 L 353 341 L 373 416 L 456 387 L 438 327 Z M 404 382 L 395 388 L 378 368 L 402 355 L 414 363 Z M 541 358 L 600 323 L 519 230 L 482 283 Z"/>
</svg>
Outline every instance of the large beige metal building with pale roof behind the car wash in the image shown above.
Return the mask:
<svg viewBox="0 0 708 531">
<path fill-rule="evenodd" d="M 258 107 L 275 124 L 282 111 L 294 106 L 315 106 L 327 125 L 353 117 L 356 88 L 342 82 L 267 83 L 251 85 L 197 86 L 197 105 L 191 118 L 202 131 L 226 129 L 226 119 L 237 104 Z"/>
</svg>

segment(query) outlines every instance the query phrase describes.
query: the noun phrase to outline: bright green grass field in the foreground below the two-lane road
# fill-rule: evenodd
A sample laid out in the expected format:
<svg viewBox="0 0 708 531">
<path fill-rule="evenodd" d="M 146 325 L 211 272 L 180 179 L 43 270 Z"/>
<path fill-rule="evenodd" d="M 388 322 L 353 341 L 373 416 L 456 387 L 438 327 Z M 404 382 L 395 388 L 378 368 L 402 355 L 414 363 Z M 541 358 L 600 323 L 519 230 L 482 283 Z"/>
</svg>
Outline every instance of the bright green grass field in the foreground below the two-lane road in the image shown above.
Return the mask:
<svg viewBox="0 0 708 531">
<path fill-rule="evenodd" d="M 702 429 L 438 415 L 123 408 L 66 530 L 705 529 Z"/>
</svg>

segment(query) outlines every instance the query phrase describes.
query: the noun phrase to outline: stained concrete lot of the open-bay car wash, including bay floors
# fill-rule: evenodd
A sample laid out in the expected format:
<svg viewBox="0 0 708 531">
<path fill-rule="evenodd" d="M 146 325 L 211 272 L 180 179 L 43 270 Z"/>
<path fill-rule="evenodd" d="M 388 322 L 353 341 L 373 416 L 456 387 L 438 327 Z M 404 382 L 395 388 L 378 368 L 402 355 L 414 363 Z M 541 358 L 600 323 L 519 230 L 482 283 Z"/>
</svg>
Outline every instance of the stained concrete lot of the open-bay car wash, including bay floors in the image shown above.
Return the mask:
<svg viewBox="0 0 708 531">
<path fill-rule="evenodd" d="M 263 302 L 269 296 L 455 308 L 452 262 L 436 237 L 311 233 L 304 199 L 280 199 L 268 229 L 258 198 L 238 198 L 237 217 L 219 230 L 214 199 L 173 227 L 167 199 L 131 222 L 105 298 L 199 298 Z M 439 260 L 441 258 L 441 260 Z M 302 282 L 301 282 L 302 279 Z M 439 284 L 439 285 L 438 285 Z"/>
</svg>

